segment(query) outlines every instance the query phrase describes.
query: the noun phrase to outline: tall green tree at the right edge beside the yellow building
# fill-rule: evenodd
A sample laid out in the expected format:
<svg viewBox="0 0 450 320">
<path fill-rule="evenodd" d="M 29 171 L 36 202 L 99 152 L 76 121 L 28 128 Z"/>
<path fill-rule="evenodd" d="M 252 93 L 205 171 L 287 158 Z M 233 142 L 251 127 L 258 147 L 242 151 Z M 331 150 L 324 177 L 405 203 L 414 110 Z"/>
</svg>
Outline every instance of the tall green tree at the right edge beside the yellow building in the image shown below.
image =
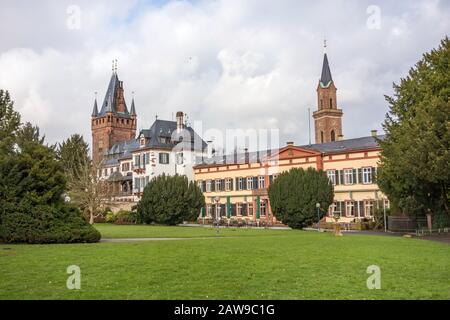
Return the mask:
<svg viewBox="0 0 450 320">
<path fill-rule="evenodd" d="M 386 96 L 377 182 L 403 213 L 450 214 L 450 43 L 424 54 Z"/>
</svg>

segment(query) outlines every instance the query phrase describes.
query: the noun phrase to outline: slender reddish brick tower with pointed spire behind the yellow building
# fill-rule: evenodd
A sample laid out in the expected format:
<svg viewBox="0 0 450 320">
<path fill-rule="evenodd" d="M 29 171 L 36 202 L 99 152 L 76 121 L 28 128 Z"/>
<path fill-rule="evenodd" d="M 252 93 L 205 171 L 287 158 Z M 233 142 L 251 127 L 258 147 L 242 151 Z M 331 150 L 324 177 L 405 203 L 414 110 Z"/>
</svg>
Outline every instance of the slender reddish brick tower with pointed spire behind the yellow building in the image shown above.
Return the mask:
<svg viewBox="0 0 450 320">
<path fill-rule="evenodd" d="M 326 44 L 325 44 L 326 48 Z M 317 86 L 317 111 L 313 113 L 316 143 L 336 141 L 342 136 L 342 109 L 337 108 L 336 86 L 324 53 L 322 75 Z"/>
</svg>

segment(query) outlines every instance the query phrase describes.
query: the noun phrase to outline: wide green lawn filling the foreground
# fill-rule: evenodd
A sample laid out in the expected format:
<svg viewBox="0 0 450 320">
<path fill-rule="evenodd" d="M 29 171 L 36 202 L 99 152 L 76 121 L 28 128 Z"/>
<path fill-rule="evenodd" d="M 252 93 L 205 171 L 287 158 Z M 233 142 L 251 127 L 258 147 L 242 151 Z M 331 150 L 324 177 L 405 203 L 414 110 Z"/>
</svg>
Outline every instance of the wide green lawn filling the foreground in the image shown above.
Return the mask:
<svg viewBox="0 0 450 320">
<path fill-rule="evenodd" d="M 0 299 L 450 299 L 450 246 L 294 230 L 98 225 L 104 237 L 208 237 L 0 245 Z M 81 290 L 66 269 L 81 268 Z M 369 265 L 381 289 L 368 290 Z"/>
</svg>

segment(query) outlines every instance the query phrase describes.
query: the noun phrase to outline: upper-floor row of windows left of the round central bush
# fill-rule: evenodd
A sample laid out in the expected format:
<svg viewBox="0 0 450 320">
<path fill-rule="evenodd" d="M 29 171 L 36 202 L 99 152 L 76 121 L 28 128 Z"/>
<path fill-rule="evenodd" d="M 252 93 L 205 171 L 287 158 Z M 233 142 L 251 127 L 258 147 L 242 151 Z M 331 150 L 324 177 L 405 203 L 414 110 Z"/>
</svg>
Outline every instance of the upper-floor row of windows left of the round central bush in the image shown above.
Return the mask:
<svg viewBox="0 0 450 320">
<path fill-rule="evenodd" d="M 272 183 L 275 177 L 274 175 L 268 176 L 269 184 Z M 234 186 L 236 191 L 267 188 L 266 176 L 237 177 L 234 180 L 233 178 L 198 180 L 197 185 L 202 192 L 233 191 Z"/>
</svg>

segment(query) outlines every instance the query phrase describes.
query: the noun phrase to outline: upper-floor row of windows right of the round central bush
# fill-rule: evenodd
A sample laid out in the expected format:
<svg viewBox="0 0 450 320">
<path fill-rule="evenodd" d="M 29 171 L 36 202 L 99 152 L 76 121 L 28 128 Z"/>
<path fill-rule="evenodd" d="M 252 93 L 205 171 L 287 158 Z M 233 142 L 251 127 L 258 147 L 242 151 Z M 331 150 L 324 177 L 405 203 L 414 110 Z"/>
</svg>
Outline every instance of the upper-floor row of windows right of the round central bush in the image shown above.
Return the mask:
<svg viewBox="0 0 450 320">
<path fill-rule="evenodd" d="M 371 184 L 377 174 L 376 167 L 327 170 L 328 179 L 333 185 Z"/>
</svg>

